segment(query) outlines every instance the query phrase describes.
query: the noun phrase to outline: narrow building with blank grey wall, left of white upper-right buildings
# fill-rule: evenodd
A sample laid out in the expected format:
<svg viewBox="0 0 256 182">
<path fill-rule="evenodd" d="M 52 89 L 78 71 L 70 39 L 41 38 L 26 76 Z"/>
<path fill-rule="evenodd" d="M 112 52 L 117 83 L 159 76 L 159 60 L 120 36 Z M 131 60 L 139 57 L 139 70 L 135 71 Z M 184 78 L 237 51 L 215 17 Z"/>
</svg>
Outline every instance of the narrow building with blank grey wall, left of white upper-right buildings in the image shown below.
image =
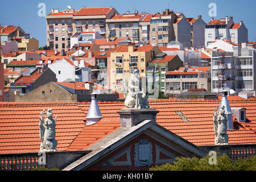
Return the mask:
<svg viewBox="0 0 256 182">
<path fill-rule="evenodd" d="M 193 48 L 204 47 L 205 44 L 205 25 L 206 23 L 202 19 L 202 16 L 199 15 L 197 18 L 186 18 L 191 24 L 191 46 Z"/>
</svg>

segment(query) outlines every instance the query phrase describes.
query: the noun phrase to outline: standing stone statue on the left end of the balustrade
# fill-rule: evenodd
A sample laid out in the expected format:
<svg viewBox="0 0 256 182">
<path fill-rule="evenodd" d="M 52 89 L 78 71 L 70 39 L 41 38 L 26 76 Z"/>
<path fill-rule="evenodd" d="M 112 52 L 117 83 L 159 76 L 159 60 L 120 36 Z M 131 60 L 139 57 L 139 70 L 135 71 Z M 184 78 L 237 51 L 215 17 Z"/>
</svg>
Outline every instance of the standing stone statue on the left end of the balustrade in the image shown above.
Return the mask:
<svg viewBox="0 0 256 182">
<path fill-rule="evenodd" d="M 43 114 L 47 114 L 45 120 Z M 42 140 L 40 151 L 56 151 L 57 140 L 55 140 L 55 126 L 57 116 L 55 119 L 52 119 L 52 109 L 48 109 L 47 113 L 43 110 L 39 119 L 40 139 Z"/>
</svg>

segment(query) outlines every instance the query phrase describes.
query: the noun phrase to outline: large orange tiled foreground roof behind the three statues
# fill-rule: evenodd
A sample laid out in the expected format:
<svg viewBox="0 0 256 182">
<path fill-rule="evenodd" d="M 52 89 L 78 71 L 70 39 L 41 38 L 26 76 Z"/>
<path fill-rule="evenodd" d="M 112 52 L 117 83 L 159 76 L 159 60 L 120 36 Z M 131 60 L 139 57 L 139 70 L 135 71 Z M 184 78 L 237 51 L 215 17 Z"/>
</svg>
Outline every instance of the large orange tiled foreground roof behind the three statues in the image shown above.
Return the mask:
<svg viewBox="0 0 256 182">
<path fill-rule="evenodd" d="M 233 98 L 233 99 L 232 99 Z M 241 97 L 240 97 L 241 98 Z M 229 144 L 256 143 L 256 98 L 245 100 L 228 97 L 230 107 L 245 107 L 247 122 L 233 119 L 234 130 L 228 130 Z M 149 105 L 159 113 L 156 123 L 197 146 L 214 146 L 213 112 L 220 100 L 149 100 Z M 100 122 L 85 126 L 89 109 L 85 103 L 0 103 L 0 153 L 38 152 L 40 149 L 38 118 L 43 109 L 53 109 L 57 115 L 57 150 L 86 150 L 120 126 L 117 111 L 124 102 L 98 102 Z M 175 111 L 182 111 L 189 122 L 183 122 Z"/>
</svg>

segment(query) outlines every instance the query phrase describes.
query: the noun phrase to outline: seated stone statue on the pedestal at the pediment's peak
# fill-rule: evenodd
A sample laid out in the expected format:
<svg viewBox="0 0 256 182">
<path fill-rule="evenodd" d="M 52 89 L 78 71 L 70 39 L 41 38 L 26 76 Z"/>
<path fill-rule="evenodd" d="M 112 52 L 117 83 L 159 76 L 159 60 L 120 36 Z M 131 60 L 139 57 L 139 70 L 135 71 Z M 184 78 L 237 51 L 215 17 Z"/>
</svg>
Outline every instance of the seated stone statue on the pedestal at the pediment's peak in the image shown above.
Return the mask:
<svg viewBox="0 0 256 182">
<path fill-rule="evenodd" d="M 139 90 L 139 85 L 139 69 L 135 69 L 129 80 L 125 106 L 134 109 L 151 109 L 151 107 L 148 106 L 147 96 L 144 92 Z"/>
</svg>

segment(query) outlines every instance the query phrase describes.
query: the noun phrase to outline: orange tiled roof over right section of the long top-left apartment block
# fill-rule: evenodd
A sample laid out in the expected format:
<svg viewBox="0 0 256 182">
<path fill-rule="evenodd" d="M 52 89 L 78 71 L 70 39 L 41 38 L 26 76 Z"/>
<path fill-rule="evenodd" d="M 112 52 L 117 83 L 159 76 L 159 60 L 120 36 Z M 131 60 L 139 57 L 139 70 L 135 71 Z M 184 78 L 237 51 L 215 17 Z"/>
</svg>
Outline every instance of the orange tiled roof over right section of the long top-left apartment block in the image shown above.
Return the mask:
<svg viewBox="0 0 256 182">
<path fill-rule="evenodd" d="M 110 10 L 112 10 L 110 7 L 82 7 L 74 16 L 106 15 Z"/>
</svg>

